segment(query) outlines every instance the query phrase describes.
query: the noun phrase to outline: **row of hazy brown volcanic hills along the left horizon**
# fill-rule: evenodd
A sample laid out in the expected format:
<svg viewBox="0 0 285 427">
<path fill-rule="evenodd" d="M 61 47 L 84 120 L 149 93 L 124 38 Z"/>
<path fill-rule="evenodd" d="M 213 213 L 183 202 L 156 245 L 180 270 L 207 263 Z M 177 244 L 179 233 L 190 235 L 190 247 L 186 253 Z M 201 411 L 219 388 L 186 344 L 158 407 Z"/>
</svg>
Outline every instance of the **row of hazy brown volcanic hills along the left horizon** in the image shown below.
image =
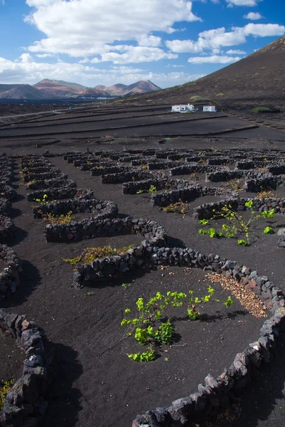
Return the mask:
<svg viewBox="0 0 285 427">
<path fill-rule="evenodd" d="M 132 85 L 117 85 L 106 88 L 97 85 L 95 88 L 87 88 L 78 83 L 65 82 L 64 80 L 50 80 L 45 78 L 36 85 L 0 85 L 0 97 L 4 99 L 42 100 L 68 97 L 112 97 L 125 96 L 134 93 L 151 92 L 158 90 L 158 86 L 150 81 L 139 81 Z"/>
</svg>

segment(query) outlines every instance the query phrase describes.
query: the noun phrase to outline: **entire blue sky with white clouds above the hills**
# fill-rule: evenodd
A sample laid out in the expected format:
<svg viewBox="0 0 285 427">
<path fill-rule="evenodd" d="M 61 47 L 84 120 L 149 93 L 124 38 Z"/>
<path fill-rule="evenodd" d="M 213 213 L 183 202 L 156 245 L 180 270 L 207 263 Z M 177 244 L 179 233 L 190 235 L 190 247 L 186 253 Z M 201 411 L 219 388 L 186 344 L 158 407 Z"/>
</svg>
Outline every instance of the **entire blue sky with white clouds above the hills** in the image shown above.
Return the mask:
<svg viewBox="0 0 285 427">
<path fill-rule="evenodd" d="M 0 83 L 181 85 L 285 35 L 285 0 L 0 0 Z"/>
</svg>

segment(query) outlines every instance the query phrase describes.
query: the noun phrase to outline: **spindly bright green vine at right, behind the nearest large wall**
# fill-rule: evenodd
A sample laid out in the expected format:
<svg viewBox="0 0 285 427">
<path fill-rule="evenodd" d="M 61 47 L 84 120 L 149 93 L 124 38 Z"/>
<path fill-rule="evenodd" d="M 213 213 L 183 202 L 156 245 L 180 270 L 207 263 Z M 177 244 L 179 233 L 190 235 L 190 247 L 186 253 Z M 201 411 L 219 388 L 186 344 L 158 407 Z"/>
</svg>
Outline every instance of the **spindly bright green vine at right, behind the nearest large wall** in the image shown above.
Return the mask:
<svg viewBox="0 0 285 427">
<path fill-rule="evenodd" d="M 263 211 L 262 214 L 257 214 L 253 210 L 253 201 L 248 200 L 245 202 L 244 206 L 247 209 L 251 210 L 251 216 L 249 219 L 244 220 L 242 218 L 242 215 L 238 214 L 237 211 L 235 211 L 232 206 L 229 204 L 228 206 L 223 206 L 221 211 L 215 212 L 215 209 L 213 209 L 213 217 L 210 218 L 210 220 L 207 219 L 200 219 L 199 223 L 203 226 L 206 226 L 210 223 L 210 221 L 215 220 L 216 218 L 223 218 L 227 221 L 227 223 L 222 224 L 222 231 L 218 232 L 215 230 L 215 228 L 200 228 L 198 233 L 199 234 L 207 234 L 211 238 L 217 238 L 217 237 L 226 237 L 226 238 L 234 238 L 237 235 L 243 235 L 244 238 L 240 238 L 237 240 L 237 244 L 240 246 L 249 246 L 249 228 L 252 225 L 254 221 L 257 221 L 259 218 L 273 218 L 274 216 L 274 209 L 270 209 L 269 211 Z M 266 227 L 264 228 L 264 233 L 274 233 L 273 228 Z"/>
</svg>

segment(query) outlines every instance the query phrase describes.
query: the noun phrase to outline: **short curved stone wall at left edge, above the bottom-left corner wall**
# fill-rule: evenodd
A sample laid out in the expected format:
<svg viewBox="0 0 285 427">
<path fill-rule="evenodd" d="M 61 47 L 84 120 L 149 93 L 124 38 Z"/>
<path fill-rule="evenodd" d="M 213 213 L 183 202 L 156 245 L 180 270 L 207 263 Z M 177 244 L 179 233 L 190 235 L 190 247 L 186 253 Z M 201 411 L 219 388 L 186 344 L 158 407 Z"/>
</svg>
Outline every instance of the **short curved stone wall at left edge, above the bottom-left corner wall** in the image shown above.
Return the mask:
<svg viewBox="0 0 285 427">
<path fill-rule="evenodd" d="M 0 301 L 10 297 L 20 286 L 22 263 L 16 253 L 7 245 L 0 245 L 0 259 L 6 268 L 0 273 Z"/>
</svg>

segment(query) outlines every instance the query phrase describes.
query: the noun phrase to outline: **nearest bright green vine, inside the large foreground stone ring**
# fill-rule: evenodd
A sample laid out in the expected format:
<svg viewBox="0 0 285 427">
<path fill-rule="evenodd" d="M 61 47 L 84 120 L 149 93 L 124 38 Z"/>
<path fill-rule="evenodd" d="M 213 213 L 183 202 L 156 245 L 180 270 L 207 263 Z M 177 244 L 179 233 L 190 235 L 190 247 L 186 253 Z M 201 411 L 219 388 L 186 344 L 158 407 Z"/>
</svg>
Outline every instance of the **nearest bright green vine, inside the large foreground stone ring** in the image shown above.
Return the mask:
<svg viewBox="0 0 285 427">
<path fill-rule="evenodd" d="M 148 347 L 146 352 L 131 353 L 127 354 L 127 356 L 136 362 L 149 362 L 156 359 L 157 347 L 161 344 L 171 344 L 173 342 L 174 327 L 171 319 L 168 318 L 167 321 L 163 321 L 168 307 L 182 307 L 184 305 L 189 319 L 198 320 L 200 319 L 200 312 L 197 310 L 198 305 L 210 302 L 210 300 L 220 302 L 220 300 L 213 298 L 214 288 L 209 286 L 207 291 L 207 295 L 201 298 L 196 297 L 193 290 L 189 290 L 188 294 L 168 291 L 166 295 L 163 295 L 161 292 L 156 292 L 156 295 L 151 297 L 149 301 L 145 301 L 143 297 L 140 297 L 136 301 L 136 317 L 130 319 L 124 317 L 121 322 L 121 326 L 127 327 L 122 339 L 134 337 L 136 342 Z M 232 303 L 232 297 L 227 297 L 224 305 L 230 307 Z M 130 315 L 131 309 L 126 308 L 124 312 Z"/>
</svg>

